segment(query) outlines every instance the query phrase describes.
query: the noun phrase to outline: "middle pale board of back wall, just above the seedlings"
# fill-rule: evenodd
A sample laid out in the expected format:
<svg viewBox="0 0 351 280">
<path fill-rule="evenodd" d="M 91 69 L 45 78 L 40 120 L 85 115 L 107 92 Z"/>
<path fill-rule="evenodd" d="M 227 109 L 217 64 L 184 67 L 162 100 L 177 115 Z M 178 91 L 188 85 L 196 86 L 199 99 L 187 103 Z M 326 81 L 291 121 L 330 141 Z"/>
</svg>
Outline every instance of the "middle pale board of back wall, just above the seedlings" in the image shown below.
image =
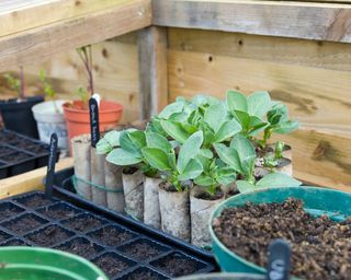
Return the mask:
<svg viewBox="0 0 351 280">
<path fill-rule="evenodd" d="M 207 93 L 223 98 L 229 89 L 268 90 L 309 128 L 351 133 L 351 72 L 169 50 L 170 101 Z"/>
</svg>

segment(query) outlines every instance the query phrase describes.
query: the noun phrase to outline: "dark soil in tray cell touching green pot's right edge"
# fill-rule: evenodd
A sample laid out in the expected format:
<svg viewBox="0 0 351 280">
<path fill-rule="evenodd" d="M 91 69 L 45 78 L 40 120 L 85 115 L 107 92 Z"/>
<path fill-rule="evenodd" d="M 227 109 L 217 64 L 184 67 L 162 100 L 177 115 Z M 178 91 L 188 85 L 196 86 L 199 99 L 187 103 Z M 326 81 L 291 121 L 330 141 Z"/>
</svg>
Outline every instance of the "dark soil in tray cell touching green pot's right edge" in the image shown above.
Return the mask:
<svg viewBox="0 0 351 280">
<path fill-rule="evenodd" d="M 115 254 L 104 254 L 93 262 L 111 278 L 129 267 L 127 261 Z"/>
</svg>

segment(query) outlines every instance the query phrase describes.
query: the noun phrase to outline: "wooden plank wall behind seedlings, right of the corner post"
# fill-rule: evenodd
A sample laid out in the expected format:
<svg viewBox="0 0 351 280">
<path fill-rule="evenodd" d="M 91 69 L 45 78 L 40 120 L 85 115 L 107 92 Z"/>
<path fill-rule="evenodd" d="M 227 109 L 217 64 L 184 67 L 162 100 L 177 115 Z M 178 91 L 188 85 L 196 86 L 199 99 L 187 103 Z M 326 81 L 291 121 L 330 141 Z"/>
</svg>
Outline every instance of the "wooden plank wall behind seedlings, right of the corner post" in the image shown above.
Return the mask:
<svg viewBox="0 0 351 280">
<path fill-rule="evenodd" d="M 169 95 L 268 90 L 302 129 L 281 137 L 294 149 L 295 175 L 351 190 L 351 45 L 171 28 Z"/>
</svg>

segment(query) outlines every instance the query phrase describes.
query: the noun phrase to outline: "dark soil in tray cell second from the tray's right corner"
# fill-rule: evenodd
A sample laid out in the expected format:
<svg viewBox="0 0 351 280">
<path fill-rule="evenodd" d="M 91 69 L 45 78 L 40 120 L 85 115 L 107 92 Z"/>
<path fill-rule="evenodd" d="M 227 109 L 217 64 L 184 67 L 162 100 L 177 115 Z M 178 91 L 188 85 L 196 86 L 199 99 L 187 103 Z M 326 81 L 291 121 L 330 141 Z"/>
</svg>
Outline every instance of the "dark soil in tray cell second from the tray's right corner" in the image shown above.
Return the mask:
<svg viewBox="0 0 351 280">
<path fill-rule="evenodd" d="M 146 241 L 127 244 L 120 249 L 126 255 L 141 260 L 151 259 L 162 252 L 158 249 L 157 245 L 151 245 Z"/>
</svg>

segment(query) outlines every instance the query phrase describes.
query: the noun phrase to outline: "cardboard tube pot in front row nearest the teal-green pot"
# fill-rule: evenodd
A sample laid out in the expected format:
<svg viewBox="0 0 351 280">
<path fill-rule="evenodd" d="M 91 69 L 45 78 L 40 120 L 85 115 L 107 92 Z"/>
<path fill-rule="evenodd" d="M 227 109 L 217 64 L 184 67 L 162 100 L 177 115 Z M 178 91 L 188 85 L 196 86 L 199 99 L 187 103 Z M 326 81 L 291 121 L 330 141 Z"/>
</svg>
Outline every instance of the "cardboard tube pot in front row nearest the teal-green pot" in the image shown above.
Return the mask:
<svg viewBox="0 0 351 280">
<path fill-rule="evenodd" d="M 205 189 L 200 186 L 193 187 L 190 191 L 191 243 L 195 246 L 211 245 L 210 217 L 216 206 L 225 200 L 225 192 L 222 189 L 218 197 L 210 200 Z"/>
</svg>

